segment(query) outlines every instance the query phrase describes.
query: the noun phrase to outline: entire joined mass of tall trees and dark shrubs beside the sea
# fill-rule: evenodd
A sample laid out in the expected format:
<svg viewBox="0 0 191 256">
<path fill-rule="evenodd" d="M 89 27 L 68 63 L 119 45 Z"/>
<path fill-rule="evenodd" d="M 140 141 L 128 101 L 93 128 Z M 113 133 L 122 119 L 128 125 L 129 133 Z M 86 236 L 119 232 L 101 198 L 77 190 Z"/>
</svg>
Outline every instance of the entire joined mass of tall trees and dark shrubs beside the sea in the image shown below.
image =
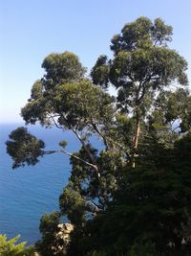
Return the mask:
<svg viewBox="0 0 191 256">
<path fill-rule="evenodd" d="M 160 18 L 139 17 L 112 38 L 113 58 L 100 56 L 91 78 L 73 53 L 44 59 L 45 75 L 21 115 L 26 124 L 71 130 L 81 149 L 69 152 L 63 140 L 59 151 L 46 151 L 27 128 L 7 142 L 13 168 L 70 155 L 60 212 L 40 223 L 42 256 L 55 246 L 68 256 L 191 255 L 191 95 L 187 62 L 171 40 Z M 67 244 L 55 239 L 62 216 L 74 225 Z"/>
</svg>

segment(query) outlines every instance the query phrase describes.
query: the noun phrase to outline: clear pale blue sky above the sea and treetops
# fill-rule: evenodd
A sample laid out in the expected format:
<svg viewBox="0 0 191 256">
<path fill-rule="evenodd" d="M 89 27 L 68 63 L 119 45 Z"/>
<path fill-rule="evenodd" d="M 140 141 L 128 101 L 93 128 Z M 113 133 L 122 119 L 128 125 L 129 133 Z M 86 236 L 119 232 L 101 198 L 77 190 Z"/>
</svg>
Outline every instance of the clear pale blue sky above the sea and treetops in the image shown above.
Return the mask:
<svg viewBox="0 0 191 256">
<path fill-rule="evenodd" d="M 173 26 L 171 47 L 188 61 L 191 81 L 190 0 L 0 0 L 0 123 L 22 120 L 47 55 L 74 52 L 90 71 L 100 54 L 111 55 L 113 35 L 140 15 Z"/>
</svg>

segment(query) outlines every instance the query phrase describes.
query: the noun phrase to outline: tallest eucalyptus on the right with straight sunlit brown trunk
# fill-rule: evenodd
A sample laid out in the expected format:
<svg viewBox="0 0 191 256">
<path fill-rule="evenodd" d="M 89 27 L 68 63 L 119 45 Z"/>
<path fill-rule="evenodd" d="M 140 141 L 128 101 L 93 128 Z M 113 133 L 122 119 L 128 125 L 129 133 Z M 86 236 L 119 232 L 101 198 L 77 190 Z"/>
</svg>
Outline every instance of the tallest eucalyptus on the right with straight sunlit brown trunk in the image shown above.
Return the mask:
<svg viewBox="0 0 191 256">
<path fill-rule="evenodd" d="M 138 138 L 142 123 L 158 96 L 173 83 L 188 83 L 187 63 L 178 52 L 168 47 L 172 27 L 160 18 L 152 22 L 139 17 L 127 23 L 120 34 L 114 35 L 111 50 L 114 58 L 100 56 L 92 69 L 94 83 L 103 88 L 117 88 L 117 106 L 134 119 L 132 166 L 135 167 Z"/>
</svg>

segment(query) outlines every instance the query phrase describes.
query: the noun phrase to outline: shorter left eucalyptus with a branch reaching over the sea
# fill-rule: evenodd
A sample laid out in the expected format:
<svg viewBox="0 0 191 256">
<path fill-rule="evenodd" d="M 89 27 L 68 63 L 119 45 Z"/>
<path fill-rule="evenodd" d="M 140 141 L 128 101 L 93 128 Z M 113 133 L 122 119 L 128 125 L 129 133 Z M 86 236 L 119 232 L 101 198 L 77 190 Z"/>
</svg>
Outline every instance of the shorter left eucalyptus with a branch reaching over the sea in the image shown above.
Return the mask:
<svg viewBox="0 0 191 256">
<path fill-rule="evenodd" d="M 47 151 L 45 143 L 33 136 L 27 128 L 16 128 L 7 142 L 7 150 L 13 159 L 12 167 L 35 165 L 46 154 L 67 153 L 74 166 L 68 185 L 73 193 L 71 191 L 71 194 L 67 194 L 65 189 L 65 195 L 68 195 L 65 202 L 70 196 L 73 198 L 72 194 L 78 193 L 84 211 L 88 209 L 94 214 L 96 205 L 92 200 L 106 200 L 111 194 L 108 190 L 113 186 L 111 182 L 114 178 L 108 178 L 111 170 L 104 170 L 104 161 L 100 161 L 89 138 L 95 134 L 102 141 L 104 151 L 112 151 L 117 147 L 115 140 L 107 135 L 114 122 L 115 99 L 85 77 L 85 68 L 72 53 L 51 54 L 44 59 L 42 67 L 45 75 L 33 83 L 31 98 L 21 109 L 21 115 L 27 125 L 39 122 L 46 128 L 71 130 L 82 148 L 79 153 L 69 152 L 66 150 L 67 141 L 63 140 L 59 143 L 59 151 Z M 85 182 L 88 182 L 86 192 L 83 188 Z"/>
</svg>

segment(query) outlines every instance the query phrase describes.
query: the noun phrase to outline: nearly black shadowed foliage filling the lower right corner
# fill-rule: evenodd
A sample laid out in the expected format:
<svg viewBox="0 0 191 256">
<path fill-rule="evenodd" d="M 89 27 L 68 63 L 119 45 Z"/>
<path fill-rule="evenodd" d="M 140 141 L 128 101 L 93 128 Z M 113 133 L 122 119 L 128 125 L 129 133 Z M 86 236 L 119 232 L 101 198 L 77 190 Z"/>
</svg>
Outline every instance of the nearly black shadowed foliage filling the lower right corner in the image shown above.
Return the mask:
<svg viewBox="0 0 191 256">
<path fill-rule="evenodd" d="M 190 255 L 191 164 L 188 155 L 177 158 L 185 142 L 190 153 L 185 136 L 171 154 L 174 160 L 168 157 L 163 169 L 124 170 L 111 205 L 87 222 L 78 237 L 78 255 L 91 250 L 106 255 Z"/>
</svg>

